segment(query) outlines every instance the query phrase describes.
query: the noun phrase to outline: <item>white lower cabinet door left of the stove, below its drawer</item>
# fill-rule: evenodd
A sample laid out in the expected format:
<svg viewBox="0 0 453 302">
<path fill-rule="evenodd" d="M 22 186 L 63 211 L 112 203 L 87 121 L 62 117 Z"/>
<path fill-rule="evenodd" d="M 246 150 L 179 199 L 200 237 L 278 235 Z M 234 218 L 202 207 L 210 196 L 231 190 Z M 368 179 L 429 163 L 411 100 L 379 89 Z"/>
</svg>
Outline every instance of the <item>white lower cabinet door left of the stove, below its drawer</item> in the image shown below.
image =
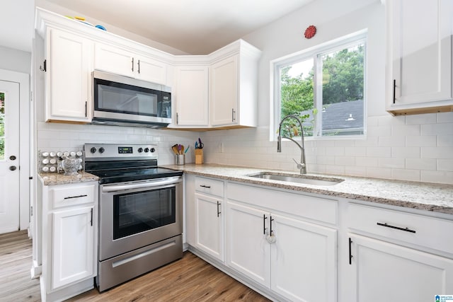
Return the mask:
<svg viewBox="0 0 453 302">
<path fill-rule="evenodd" d="M 93 207 L 56 211 L 52 217 L 52 289 L 94 277 Z"/>
</svg>

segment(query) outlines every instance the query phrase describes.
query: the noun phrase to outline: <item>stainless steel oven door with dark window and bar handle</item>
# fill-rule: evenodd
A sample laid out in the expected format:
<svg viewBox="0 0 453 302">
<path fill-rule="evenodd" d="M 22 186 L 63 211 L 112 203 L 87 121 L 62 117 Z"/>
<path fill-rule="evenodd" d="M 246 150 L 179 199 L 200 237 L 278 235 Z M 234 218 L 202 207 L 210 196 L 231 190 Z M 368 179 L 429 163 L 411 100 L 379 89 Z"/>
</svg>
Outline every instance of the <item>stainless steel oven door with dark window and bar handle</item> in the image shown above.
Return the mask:
<svg viewBox="0 0 453 302">
<path fill-rule="evenodd" d="M 181 177 L 100 187 L 99 260 L 183 233 Z"/>
</svg>

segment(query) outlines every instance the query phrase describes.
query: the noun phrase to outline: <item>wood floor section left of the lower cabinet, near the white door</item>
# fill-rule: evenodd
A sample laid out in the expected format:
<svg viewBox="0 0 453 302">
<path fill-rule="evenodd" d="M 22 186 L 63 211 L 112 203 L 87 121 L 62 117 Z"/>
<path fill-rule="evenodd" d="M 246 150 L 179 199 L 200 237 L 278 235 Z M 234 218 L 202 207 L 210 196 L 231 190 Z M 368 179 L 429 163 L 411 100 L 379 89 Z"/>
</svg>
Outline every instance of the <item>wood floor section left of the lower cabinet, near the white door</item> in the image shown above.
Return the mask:
<svg viewBox="0 0 453 302">
<path fill-rule="evenodd" d="M 40 281 L 30 277 L 31 245 L 27 231 L 0 235 L 0 301 L 41 301 Z"/>
</svg>

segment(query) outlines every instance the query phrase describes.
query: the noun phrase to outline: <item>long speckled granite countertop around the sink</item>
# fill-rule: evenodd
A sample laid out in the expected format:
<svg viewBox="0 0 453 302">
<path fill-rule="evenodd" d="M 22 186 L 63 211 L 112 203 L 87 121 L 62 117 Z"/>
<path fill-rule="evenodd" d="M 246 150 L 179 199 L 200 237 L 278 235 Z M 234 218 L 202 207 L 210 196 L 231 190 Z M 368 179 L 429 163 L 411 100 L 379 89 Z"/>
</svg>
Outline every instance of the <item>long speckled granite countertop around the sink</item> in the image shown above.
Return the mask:
<svg viewBox="0 0 453 302">
<path fill-rule="evenodd" d="M 255 185 L 280 187 L 282 189 L 294 191 L 317 193 L 349 199 L 360 199 L 380 204 L 391 204 L 399 207 L 453 214 L 453 185 L 309 173 L 309 175 L 313 175 L 314 177 L 320 179 L 341 178 L 345 180 L 338 183 L 338 185 L 321 186 L 296 184 L 278 180 L 265 180 L 246 176 L 257 174 L 262 171 L 274 171 L 277 173 L 287 174 L 287 172 L 281 170 L 267 170 L 261 168 L 245 168 L 215 164 L 195 165 L 192 163 L 186 165 L 164 165 L 164 168 L 183 170 L 185 173 L 221 178 L 224 180 L 246 182 Z M 298 175 L 297 173 L 291 174 Z"/>
</svg>

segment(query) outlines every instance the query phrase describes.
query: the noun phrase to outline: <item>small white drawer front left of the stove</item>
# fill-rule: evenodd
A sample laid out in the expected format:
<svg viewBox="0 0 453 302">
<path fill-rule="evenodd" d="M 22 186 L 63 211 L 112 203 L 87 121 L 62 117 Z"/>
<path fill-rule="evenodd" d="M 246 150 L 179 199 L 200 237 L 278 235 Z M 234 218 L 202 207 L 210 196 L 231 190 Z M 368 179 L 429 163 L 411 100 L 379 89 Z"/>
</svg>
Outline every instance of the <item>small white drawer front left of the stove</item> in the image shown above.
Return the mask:
<svg viewBox="0 0 453 302">
<path fill-rule="evenodd" d="M 93 203 L 96 200 L 97 184 L 56 186 L 50 192 L 54 209 L 77 204 Z"/>
</svg>

